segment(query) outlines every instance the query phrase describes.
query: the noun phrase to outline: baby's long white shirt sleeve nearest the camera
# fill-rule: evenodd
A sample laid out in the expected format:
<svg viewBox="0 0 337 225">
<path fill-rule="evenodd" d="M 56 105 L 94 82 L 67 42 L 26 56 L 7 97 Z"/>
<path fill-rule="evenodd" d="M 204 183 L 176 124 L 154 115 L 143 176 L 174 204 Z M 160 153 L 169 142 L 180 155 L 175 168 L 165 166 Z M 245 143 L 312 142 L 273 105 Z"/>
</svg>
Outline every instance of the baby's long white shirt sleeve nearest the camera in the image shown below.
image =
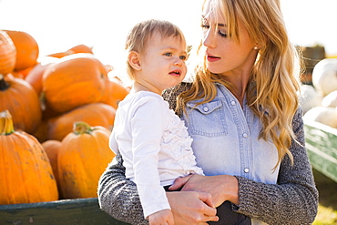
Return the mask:
<svg viewBox="0 0 337 225">
<path fill-rule="evenodd" d="M 158 175 L 158 152 L 168 119 L 167 108 L 161 101 L 149 98 L 131 118 L 135 181 L 145 218 L 158 210 L 170 209 Z"/>
</svg>

